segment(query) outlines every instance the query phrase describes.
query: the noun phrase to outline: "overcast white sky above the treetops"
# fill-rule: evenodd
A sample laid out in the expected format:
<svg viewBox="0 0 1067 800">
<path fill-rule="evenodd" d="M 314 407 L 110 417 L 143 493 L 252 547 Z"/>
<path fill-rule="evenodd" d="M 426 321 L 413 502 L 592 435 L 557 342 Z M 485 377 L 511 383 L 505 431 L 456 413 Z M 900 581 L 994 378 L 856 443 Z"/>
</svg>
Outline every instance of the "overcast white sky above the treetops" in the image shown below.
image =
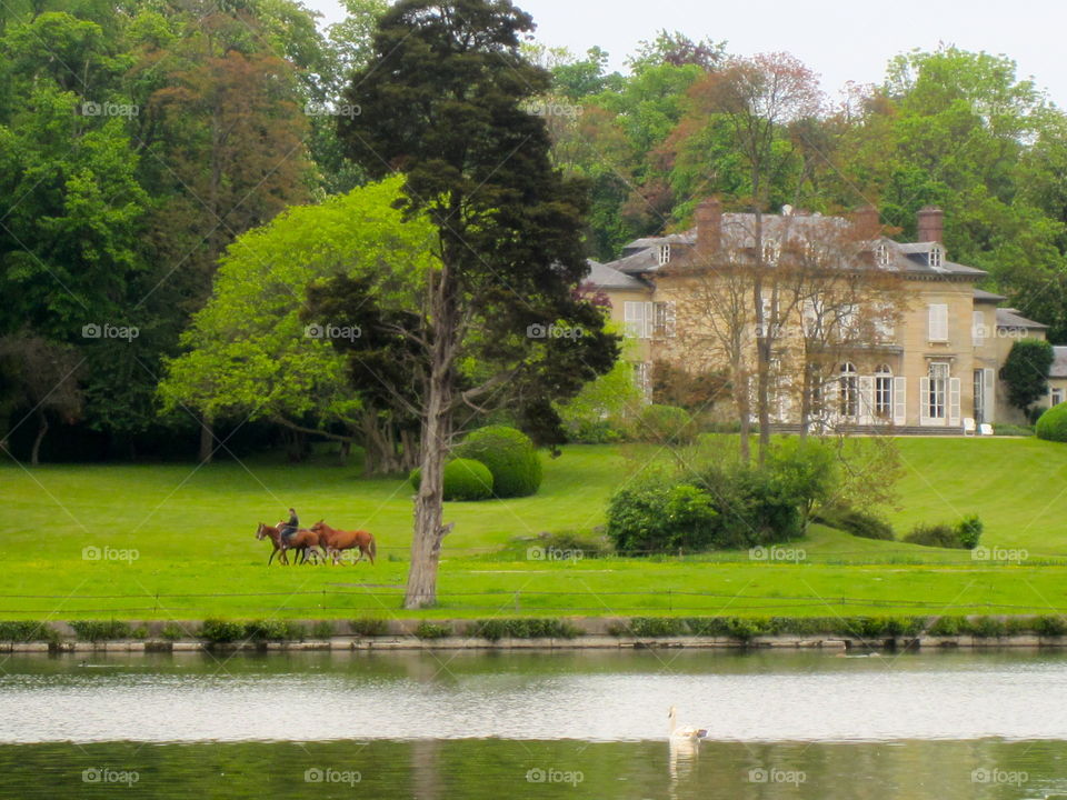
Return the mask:
<svg viewBox="0 0 1067 800">
<path fill-rule="evenodd" d="M 336 0 L 305 0 L 325 16 L 342 16 Z M 537 38 L 578 53 L 599 44 L 621 68 L 641 39 L 661 28 L 692 39 L 727 40 L 730 52 L 787 50 L 822 78 L 836 99 L 848 80 L 879 81 L 895 54 L 938 42 L 1005 53 L 1067 107 L 1063 0 L 517 0 L 532 14 Z"/>
</svg>

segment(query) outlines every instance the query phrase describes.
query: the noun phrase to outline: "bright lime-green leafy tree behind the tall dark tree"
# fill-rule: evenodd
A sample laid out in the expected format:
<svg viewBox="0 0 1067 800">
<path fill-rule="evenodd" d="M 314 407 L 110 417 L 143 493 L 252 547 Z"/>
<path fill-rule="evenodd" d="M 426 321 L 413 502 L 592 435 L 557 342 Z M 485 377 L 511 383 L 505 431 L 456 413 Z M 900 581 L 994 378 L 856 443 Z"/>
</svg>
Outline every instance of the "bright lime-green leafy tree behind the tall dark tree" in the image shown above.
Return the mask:
<svg viewBox="0 0 1067 800">
<path fill-rule="evenodd" d="M 356 431 L 369 472 L 396 471 L 380 444 L 376 383 L 352 384 L 333 339 L 370 333 L 355 309 L 320 327 L 302 318 L 308 287 L 345 276 L 379 296 L 413 304 L 429 269 L 431 229 L 393 208 L 400 180 L 356 189 L 320 206 L 290 209 L 227 250 L 207 306 L 182 337 L 188 351 L 167 361 L 159 387 L 166 410 L 213 419 L 263 419 L 299 433 L 350 442 Z"/>
</svg>

